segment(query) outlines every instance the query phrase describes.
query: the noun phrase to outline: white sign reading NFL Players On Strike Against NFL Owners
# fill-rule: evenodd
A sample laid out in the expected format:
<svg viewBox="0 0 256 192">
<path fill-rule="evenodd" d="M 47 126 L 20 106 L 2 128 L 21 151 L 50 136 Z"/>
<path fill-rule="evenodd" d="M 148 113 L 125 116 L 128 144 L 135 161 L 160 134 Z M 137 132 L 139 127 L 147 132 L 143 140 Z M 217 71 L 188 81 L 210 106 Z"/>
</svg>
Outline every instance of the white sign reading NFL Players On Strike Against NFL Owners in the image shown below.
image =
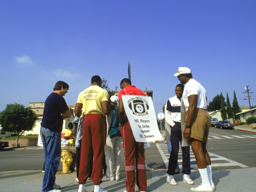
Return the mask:
<svg viewBox="0 0 256 192">
<path fill-rule="evenodd" d="M 122 99 L 136 142 L 162 140 L 151 97 L 122 95 Z"/>
</svg>

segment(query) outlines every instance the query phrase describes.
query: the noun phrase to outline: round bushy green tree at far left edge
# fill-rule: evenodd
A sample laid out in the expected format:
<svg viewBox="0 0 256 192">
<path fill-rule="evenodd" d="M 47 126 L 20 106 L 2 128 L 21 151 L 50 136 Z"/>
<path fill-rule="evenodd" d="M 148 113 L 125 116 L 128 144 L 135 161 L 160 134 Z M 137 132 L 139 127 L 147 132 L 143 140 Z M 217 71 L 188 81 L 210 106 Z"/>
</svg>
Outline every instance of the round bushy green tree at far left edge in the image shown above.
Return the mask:
<svg viewBox="0 0 256 192">
<path fill-rule="evenodd" d="M 25 108 L 24 105 L 18 103 L 7 104 L 6 108 L 0 114 L 0 124 L 2 131 L 14 132 L 17 136 L 16 147 L 20 135 L 24 131 L 30 131 L 35 127 L 37 114 L 30 107 Z"/>
</svg>

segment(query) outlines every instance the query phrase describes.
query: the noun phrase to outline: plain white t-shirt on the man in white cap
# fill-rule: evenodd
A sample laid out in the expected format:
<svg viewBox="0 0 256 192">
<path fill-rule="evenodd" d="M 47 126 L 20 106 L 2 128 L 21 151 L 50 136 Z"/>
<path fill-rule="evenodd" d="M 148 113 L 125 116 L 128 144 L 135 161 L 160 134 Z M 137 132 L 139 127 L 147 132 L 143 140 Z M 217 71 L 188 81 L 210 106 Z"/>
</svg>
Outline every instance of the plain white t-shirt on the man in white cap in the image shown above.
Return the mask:
<svg viewBox="0 0 256 192">
<path fill-rule="evenodd" d="M 185 105 L 186 111 L 188 110 L 188 106 L 189 106 L 189 103 L 188 103 L 188 96 L 189 95 L 198 95 L 196 108 L 201 108 L 201 109 L 206 109 L 207 108 L 206 90 L 195 79 L 190 79 L 185 84 L 185 87 L 184 87 L 182 99 L 183 99 L 183 103 Z"/>
</svg>

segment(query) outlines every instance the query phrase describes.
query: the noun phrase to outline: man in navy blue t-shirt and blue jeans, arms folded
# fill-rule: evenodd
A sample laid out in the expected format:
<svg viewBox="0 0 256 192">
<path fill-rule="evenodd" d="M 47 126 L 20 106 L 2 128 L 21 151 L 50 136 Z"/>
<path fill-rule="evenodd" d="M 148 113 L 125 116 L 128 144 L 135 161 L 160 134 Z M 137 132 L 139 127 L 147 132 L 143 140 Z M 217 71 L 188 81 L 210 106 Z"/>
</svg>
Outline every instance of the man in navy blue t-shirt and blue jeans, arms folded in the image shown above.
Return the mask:
<svg viewBox="0 0 256 192">
<path fill-rule="evenodd" d="M 60 164 L 61 131 L 63 119 L 70 118 L 71 112 L 63 96 L 68 93 L 68 84 L 58 81 L 45 100 L 40 135 L 45 153 L 45 174 L 42 192 L 61 192 L 55 184 L 55 174 Z"/>
</svg>

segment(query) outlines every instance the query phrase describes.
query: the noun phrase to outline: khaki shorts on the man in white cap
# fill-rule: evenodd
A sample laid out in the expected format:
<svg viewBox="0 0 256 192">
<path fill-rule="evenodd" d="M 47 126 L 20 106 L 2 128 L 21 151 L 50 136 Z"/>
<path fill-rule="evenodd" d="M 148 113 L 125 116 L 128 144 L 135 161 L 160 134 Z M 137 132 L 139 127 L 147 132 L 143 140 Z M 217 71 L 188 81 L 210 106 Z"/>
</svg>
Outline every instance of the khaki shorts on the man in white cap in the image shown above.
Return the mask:
<svg viewBox="0 0 256 192">
<path fill-rule="evenodd" d="M 188 114 L 185 118 L 187 122 Z M 211 127 L 211 117 L 209 113 L 201 108 L 196 108 L 195 115 L 191 124 L 190 137 L 207 143 L 209 129 Z"/>
</svg>

